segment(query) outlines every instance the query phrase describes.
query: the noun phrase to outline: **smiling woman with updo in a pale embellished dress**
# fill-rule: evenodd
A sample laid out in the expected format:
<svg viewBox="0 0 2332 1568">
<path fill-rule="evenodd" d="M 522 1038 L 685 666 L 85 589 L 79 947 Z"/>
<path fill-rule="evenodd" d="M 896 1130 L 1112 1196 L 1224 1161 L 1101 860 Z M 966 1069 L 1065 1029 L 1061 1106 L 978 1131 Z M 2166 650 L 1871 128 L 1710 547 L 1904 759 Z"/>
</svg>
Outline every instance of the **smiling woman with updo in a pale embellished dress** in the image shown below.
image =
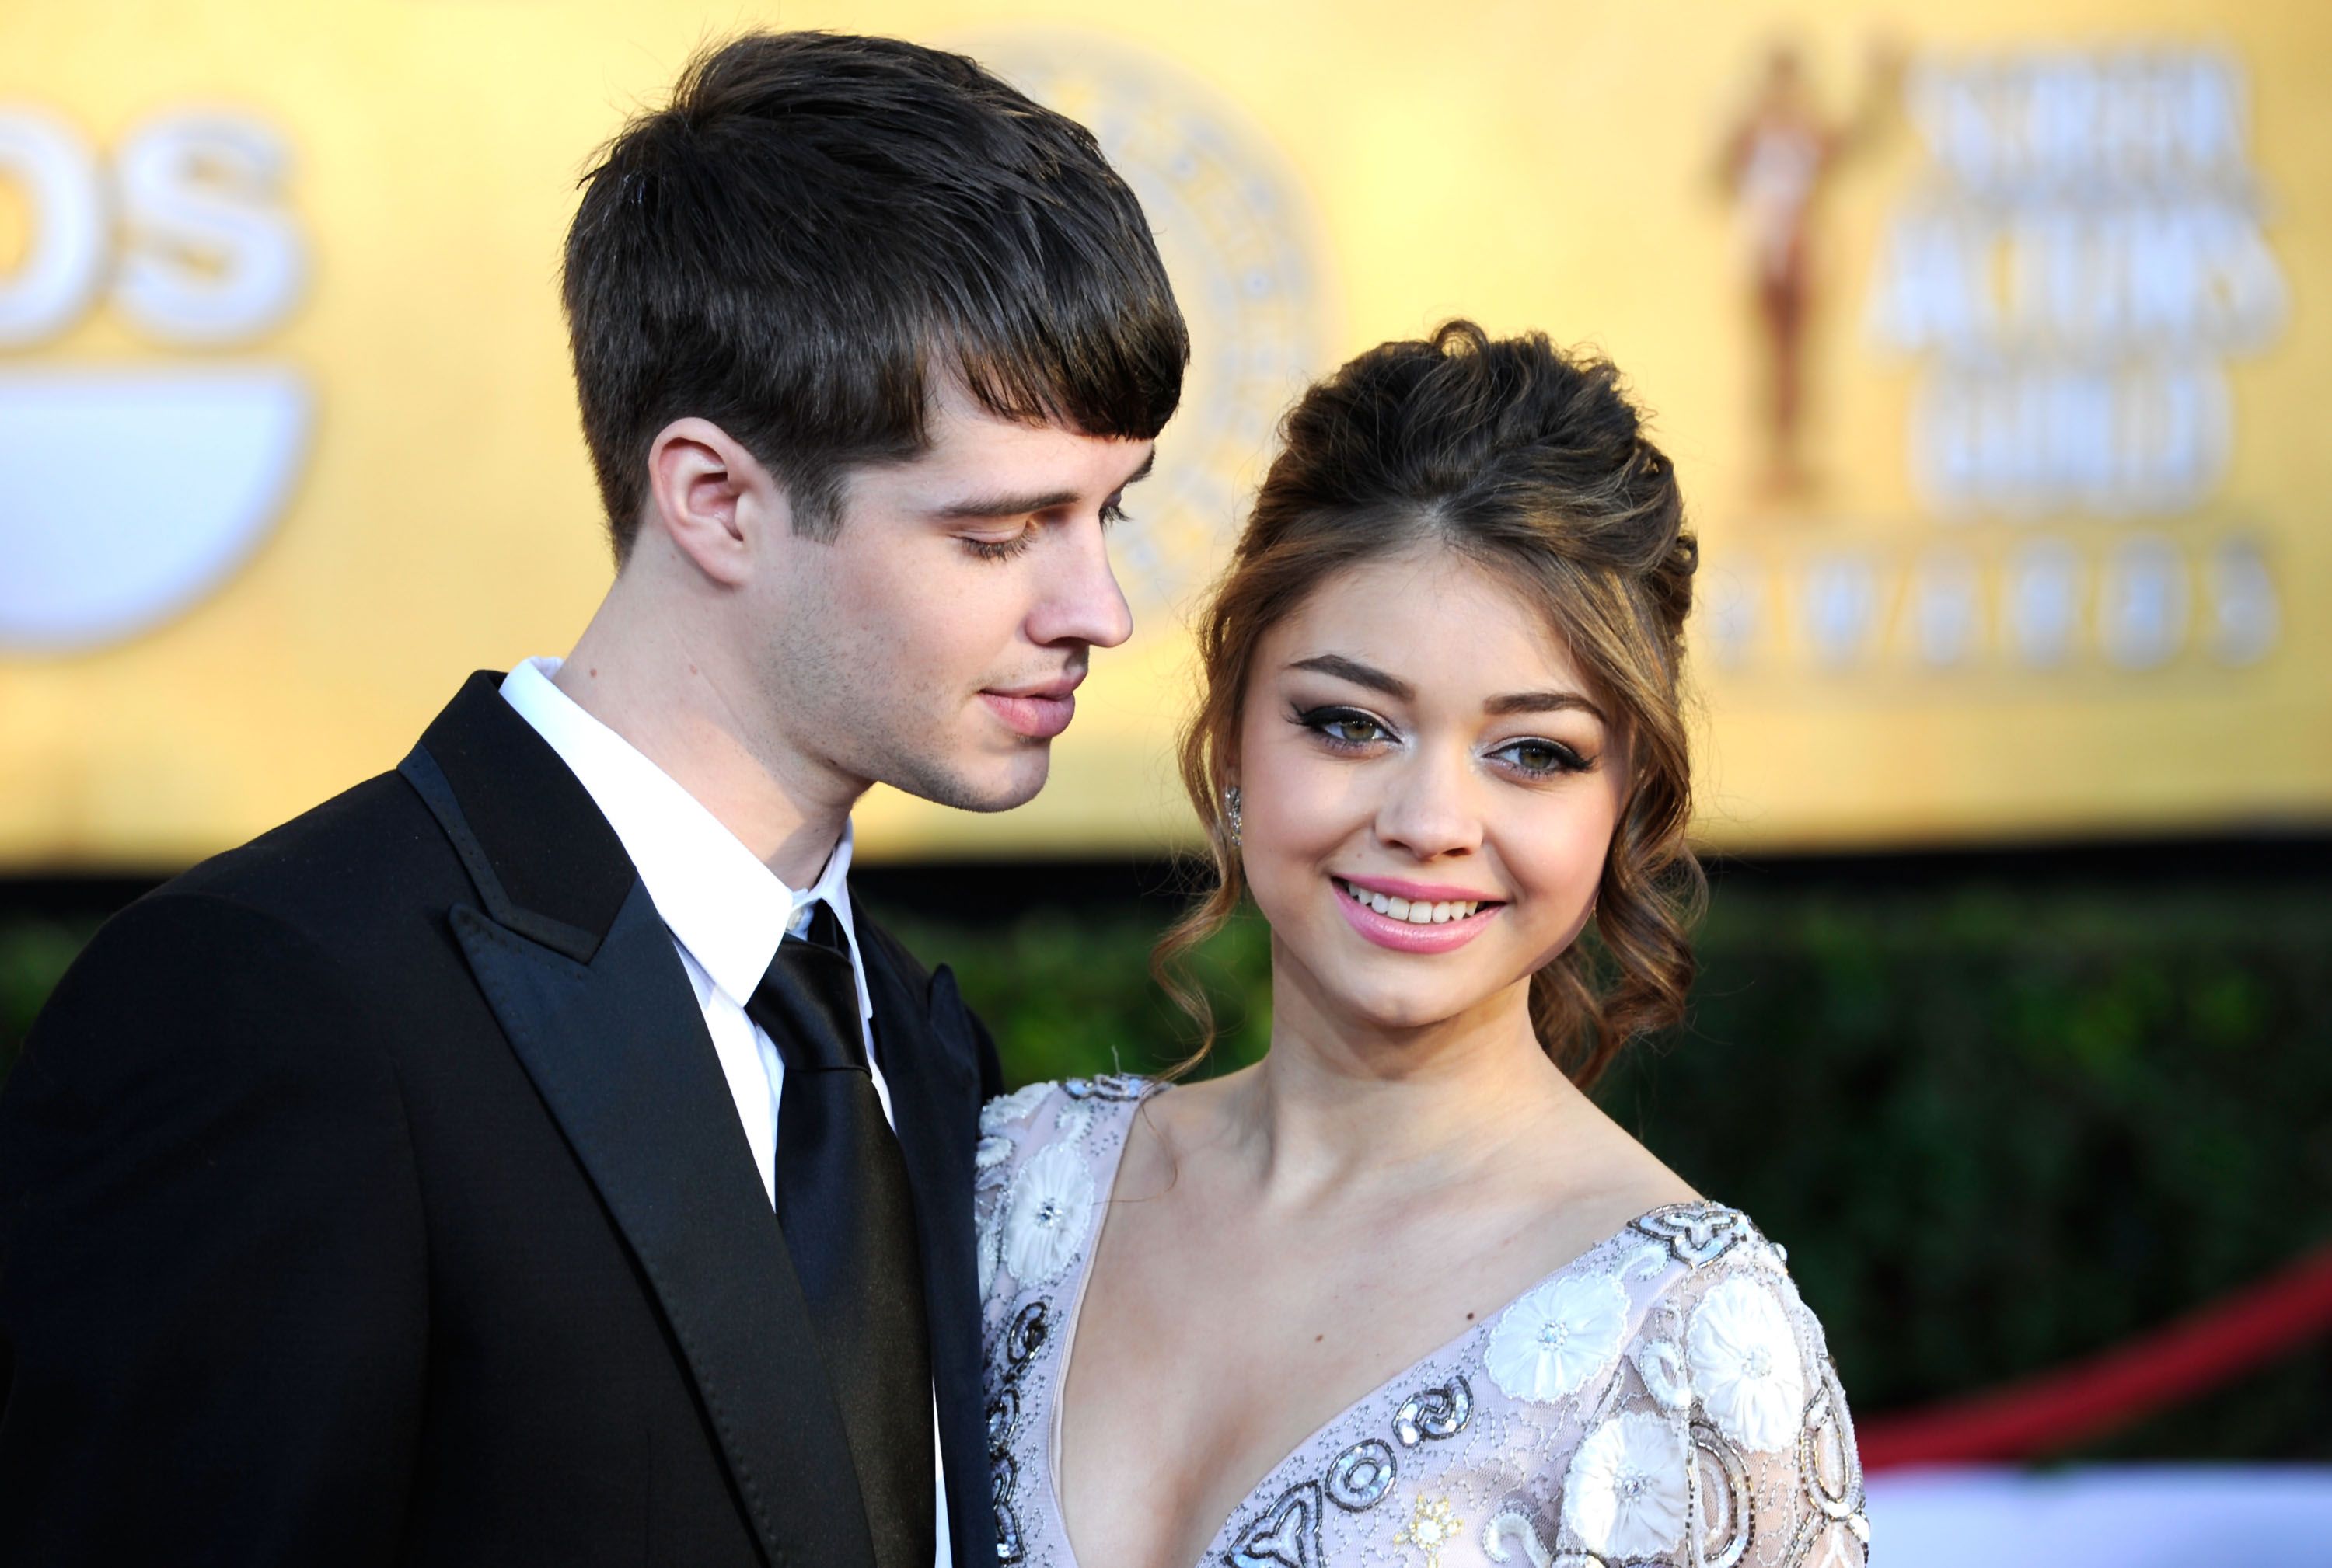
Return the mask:
<svg viewBox="0 0 2332 1568">
<path fill-rule="evenodd" d="M 1581 1093 L 1679 1016 L 1695 545 L 1607 363 L 1455 322 L 1313 387 L 1182 748 L 1252 1067 L 989 1104 L 998 1561 L 1863 1561 L 1782 1249 Z M 1595 923 L 1616 974 L 1579 937 Z"/>
</svg>

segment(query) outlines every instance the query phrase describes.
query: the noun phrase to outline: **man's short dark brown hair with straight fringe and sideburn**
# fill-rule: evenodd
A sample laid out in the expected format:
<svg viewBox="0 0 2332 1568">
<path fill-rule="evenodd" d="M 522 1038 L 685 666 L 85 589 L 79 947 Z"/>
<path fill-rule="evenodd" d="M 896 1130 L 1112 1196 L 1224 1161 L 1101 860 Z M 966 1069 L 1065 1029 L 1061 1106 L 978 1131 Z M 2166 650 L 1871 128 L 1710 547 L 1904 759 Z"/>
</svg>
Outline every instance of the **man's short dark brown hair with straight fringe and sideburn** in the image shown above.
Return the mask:
<svg viewBox="0 0 2332 1568">
<path fill-rule="evenodd" d="M 1147 440 L 1189 361 L 1091 133 L 888 37 L 700 54 L 583 179 L 562 294 L 618 561 L 674 419 L 737 438 L 830 538 L 854 466 L 926 450 L 942 377 L 998 417 Z"/>
</svg>

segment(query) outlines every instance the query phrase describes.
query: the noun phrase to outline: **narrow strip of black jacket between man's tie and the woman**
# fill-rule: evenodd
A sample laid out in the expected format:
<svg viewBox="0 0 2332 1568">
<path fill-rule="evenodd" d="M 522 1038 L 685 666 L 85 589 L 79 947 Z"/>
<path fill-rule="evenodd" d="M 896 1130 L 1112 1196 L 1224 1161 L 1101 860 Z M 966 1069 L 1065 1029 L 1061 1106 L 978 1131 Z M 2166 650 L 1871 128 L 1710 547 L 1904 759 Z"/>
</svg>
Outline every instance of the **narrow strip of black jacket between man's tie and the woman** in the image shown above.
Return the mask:
<svg viewBox="0 0 2332 1568">
<path fill-rule="evenodd" d="M 884 941 L 861 930 L 858 955 L 874 997 L 874 1055 L 914 1191 L 923 1251 L 923 1309 L 947 1465 L 947 1533 L 956 1563 L 996 1561 L 986 1417 L 979 1393 L 979 1258 L 972 1242 L 972 1144 L 979 1139 L 979 1060 L 970 1013 L 944 967 L 916 995 Z"/>
</svg>

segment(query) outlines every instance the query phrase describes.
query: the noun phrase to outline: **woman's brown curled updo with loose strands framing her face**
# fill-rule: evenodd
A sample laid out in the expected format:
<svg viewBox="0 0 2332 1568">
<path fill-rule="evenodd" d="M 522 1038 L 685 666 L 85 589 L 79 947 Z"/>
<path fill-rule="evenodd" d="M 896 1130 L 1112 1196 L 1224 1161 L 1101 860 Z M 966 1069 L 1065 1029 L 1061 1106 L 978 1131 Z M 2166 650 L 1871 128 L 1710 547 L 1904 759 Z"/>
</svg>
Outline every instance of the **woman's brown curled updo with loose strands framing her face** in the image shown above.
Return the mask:
<svg viewBox="0 0 2332 1568">
<path fill-rule="evenodd" d="M 1632 1034 L 1684 1016 L 1686 927 L 1705 892 L 1684 836 L 1691 762 L 1679 706 L 1698 548 L 1674 466 L 1644 438 L 1607 361 L 1572 359 L 1544 333 L 1490 338 L 1471 322 L 1369 349 L 1306 391 L 1280 438 L 1199 617 L 1199 706 L 1180 769 L 1215 885 L 1166 932 L 1152 969 L 1213 1039 L 1206 997 L 1175 960 L 1245 897 L 1224 787 L 1264 634 L 1350 566 L 1446 545 L 1544 606 L 1625 748 L 1595 902 L 1607 962 L 1574 941 L 1530 986 L 1546 1053 L 1574 1083 L 1593 1083 Z"/>
</svg>

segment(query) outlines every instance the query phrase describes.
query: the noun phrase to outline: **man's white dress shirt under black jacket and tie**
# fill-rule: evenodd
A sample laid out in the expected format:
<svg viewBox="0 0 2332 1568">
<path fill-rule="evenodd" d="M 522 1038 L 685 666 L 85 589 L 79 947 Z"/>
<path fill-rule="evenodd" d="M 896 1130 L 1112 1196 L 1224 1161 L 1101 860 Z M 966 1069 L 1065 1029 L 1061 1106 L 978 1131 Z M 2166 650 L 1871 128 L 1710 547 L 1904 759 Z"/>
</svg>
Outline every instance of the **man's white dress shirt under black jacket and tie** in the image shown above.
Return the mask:
<svg viewBox="0 0 2332 1568">
<path fill-rule="evenodd" d="M 812 909 L 823 899 L 842 923 L 842 941 L 858 979 L 858 1027 L 865 1030 L 868 1069 L 884 1116 L 891 1116 L 891 1088 L 874 1065 L 874 1000 L 868 995 L 865 965 L 858 955 L 858 932 L 851 925 L 851 827 L 826 860 L 819 881 L 795 892 L 721 825 L 704 804 L 683 790 L 672 774 L 648 762 L 630 741 L 585 713 L 550 676 L 560 659 L 527 659 L 501 680 L 501 697 L 534 727 L 550 750 L 574 771 L 599 806 L 599 815 L 623 841 L 623 853 L 639 869 L 655 913 L 672 932 L 681 969 L 695 986 L 704 1009 L 704 1030 L 728 1076 L 744 1142 L 753 1149 L 760 1188 L 777 1205 L 777 1097 L 786 1086 L 786 1062 L 770 1037 L 744 1013 L 746 1000 L 777 958 L 786 934 L 800 937 Z M 777 1412 L 770 1412 L 777 1419 Z M 933 1456 L 937 1456 L 937 1393 L 933 1393 Z M 947 1472 L 937 1477 L 940 1552 L 937 1568 L 949 1568 L 947 1542 Z"/>
</svg>

